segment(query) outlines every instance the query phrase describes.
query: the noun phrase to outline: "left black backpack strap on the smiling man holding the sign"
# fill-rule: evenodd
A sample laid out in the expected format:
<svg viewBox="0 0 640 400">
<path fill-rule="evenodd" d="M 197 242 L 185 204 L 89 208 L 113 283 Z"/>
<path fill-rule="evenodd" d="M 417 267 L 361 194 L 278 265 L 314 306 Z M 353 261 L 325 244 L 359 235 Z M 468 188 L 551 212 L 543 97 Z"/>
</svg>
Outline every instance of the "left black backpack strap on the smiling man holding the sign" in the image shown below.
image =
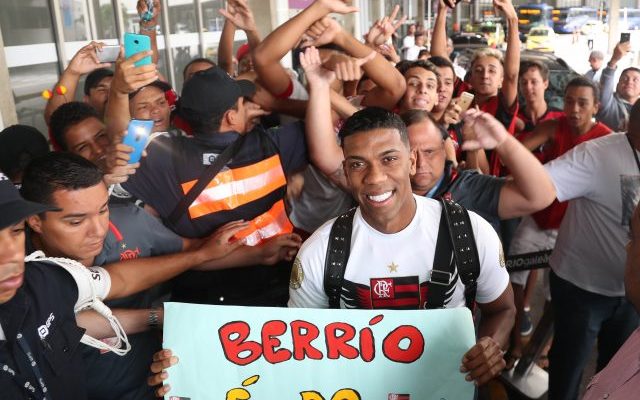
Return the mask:
<svg viewBox="0 0 640 400">
<path fill-rule="evenodd" d="M 324 261 L 324 292 L 329 298 L 329 308 L 340 308 L 342 281 L 351 251 L 351 229 L 355 213 L 354 207 L 340 215 L 331 226 Z"/>
</svg>

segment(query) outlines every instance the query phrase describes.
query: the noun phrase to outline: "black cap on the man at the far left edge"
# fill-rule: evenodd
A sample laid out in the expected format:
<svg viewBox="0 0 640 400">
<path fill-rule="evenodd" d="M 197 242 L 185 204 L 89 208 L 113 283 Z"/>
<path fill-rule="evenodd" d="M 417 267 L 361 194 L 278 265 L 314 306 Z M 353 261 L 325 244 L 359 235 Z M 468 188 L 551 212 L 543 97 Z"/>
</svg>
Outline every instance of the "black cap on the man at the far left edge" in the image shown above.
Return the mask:
<svg viewBox="0 0 640 400">
<path fill-rule="evenodd" d="M 0 229 L 17 224 L 32 215 L 57 210 L 59 209 L 53 206 L 23 199 L 9 178 L 0 172 Z"/>
</svg>

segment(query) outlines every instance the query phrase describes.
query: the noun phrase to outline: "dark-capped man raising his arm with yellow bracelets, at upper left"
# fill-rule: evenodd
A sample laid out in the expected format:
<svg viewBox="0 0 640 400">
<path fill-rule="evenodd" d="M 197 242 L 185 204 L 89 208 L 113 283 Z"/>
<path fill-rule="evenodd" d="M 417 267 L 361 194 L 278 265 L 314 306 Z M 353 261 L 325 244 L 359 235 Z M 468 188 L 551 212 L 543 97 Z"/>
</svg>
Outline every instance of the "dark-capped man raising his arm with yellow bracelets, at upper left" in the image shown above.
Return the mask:
<svg viewBox="0 0 640 400">
<path fill-rule="evenodd" d="M 104 111 L 109 99 L 109 87 L 113 78 L 113 71 L 107 69 L 111 64 L 101 63 L 96 50 L 102 49 L 104 43 L 91 42 L 84 46 L 69 61 L 60 80 L 52 90 L 52 95 L 44 110 L 44 119 L 49 123 L 51 114 L 62 104 L 76 98 L 76 89 L 82 75 L 88 74 L 84 83 L 84 102 L 95 108 L 100 115 Z M 59 88 L 59 89 L 58 89 Z"/>
</svg>

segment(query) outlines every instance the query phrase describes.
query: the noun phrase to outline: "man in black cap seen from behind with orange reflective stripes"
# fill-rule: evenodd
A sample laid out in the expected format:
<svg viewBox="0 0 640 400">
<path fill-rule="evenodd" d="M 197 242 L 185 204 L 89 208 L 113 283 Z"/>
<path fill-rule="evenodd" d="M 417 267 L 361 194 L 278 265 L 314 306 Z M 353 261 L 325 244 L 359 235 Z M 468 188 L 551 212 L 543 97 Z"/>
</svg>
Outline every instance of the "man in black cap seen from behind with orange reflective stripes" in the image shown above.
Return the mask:
<svg viewBox="0 0 640 400">
<path fill-rule="evenodd" d="M 193 137 L 164 135 L 153 140 L 140 168 L 123 184 L 183 237 L 203 237 L 229 221 L 244 219 L 250 226 L 237 236 L 258 249 L 271 249 L 243 261 L 247 268 L 184 274 L 174 285 L 177 301 L 286 304 L 289 268 L 265 264 L 291 259 L 300 243 L 291 233 L 283 199 L 285 176 L 307 163 L 304 130 L 301 123 L 269 131 L 251 129 L 260 110 L 256 113 L 245 97 L 254 90 L 251 82 L 235 81 L 220 67 L 194 74 L 184 85 L 179 109 Z M 220 169 L 212 171 L 211 165 L 223 156 Z M 195 200 L 183 201 L 207 169 L 213 179 L 203 178 Z M 275 248 L 274 241 L 279 243 Z"/>
</svg>

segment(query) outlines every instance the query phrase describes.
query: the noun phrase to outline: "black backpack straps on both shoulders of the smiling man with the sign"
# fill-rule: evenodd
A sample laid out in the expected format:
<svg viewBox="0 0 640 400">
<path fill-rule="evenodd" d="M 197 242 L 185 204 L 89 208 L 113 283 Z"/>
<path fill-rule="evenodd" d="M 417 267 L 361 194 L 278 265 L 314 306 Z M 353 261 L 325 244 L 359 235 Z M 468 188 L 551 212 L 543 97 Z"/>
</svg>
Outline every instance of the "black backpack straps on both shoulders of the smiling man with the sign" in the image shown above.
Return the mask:
<svg viewBox="0 0 640 400">
<path fill-rule="evenodd" d="M 440 203 L 442 216 L 438 228 L 433 270 L 427 282 L 426 308 L 443 307 L 446 289 L 457 269 L 465 286 L 466 305 L 473 312 L 477 279 L 480 274 L 480 259 L 469 213 L 452 200 L 440 199 Z M 331 227 L 324 267 L 324 291 L 329 298 L 329 308 L 340 308 L 340 294 L 351 250 L 351 230 L 355 211 L 356 208 L 352 208 L 340 215 Z M 452 252 L 453 257 L 451 257 Z"/>
</svg>

